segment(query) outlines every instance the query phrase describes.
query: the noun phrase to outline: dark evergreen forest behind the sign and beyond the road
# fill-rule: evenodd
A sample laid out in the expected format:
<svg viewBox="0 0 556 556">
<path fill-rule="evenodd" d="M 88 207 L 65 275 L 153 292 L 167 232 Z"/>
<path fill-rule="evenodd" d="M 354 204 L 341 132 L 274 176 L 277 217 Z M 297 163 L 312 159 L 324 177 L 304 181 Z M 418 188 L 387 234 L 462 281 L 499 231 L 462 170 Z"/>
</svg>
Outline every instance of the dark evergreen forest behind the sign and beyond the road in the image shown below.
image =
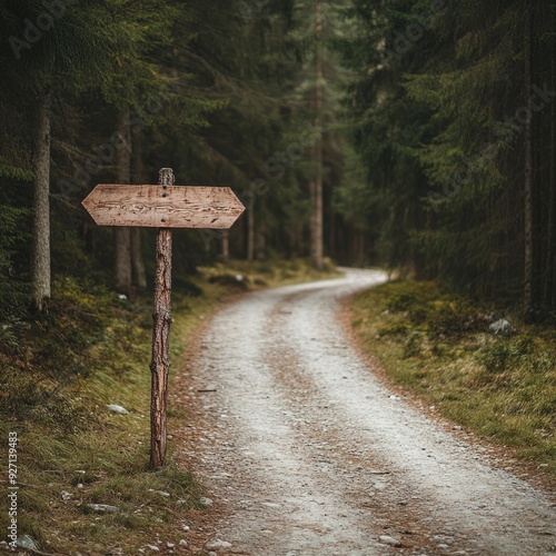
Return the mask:
<svg viewBox="0 0 556 556">
<path fill-rule="evenodd" d="M 150 279 L 97 183 L 234 188 L 178 266 L 310 257 L 437 279 L 524 319 L 556 304 L 555 2 L 3 0 L 0 314 L 57 277 Z"/>
</svg>

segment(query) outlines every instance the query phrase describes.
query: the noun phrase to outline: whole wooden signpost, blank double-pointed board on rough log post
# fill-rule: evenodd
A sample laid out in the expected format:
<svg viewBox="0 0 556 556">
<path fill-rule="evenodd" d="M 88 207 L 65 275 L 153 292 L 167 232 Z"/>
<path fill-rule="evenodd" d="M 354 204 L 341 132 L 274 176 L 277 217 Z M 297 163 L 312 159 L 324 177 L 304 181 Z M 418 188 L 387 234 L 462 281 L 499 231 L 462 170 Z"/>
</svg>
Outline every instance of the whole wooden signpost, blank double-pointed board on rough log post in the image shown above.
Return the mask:
<svg viewBox="0 0 556 556">
<path fill-rule="evenodd" d="M 228 229 L 245 207 L 229 187 L 175 186 L 171 168 L 162 168 L 157 186 L 99 185 L 82 201 L 99 226 L 159 228 L 152 327 L 150 465 L 166 458 L 166 406 L 170 369 L 171 228 Z"/>
</svg>

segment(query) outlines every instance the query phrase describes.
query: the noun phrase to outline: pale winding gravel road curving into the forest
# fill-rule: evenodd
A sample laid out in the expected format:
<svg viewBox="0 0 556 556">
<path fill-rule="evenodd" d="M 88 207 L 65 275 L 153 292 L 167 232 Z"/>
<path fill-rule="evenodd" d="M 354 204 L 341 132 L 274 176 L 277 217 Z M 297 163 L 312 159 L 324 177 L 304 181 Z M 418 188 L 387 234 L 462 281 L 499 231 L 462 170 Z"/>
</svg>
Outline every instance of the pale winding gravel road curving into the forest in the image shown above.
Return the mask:
<svg viewBox="0 0 556 556">
<path fill-rule="evenodd" d="M 385 388 L 338 319 L 379 271 L 246 295 L 192 361 L 195 465 L 218 554 L 556 552 L 549 494 Z M 208 530 L 208 529 L 207 529 Z M 229 546 L 231 545 L 231 546 Z"/>
</svg>

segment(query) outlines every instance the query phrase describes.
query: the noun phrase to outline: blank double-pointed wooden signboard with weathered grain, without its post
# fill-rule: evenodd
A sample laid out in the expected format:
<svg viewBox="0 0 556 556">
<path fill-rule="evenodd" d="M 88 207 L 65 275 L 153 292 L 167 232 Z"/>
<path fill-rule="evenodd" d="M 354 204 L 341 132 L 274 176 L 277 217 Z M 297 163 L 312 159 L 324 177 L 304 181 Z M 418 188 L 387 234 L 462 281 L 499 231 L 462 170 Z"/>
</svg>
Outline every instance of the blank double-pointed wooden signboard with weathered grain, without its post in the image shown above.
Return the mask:
<svg viewBox="0 0 556 556">
<path fill-rule="evenodd" d="M 245 207 L 229 187 L 98 185 L 82 201 L 98 226 L 228 229 Z"/>
</svg>

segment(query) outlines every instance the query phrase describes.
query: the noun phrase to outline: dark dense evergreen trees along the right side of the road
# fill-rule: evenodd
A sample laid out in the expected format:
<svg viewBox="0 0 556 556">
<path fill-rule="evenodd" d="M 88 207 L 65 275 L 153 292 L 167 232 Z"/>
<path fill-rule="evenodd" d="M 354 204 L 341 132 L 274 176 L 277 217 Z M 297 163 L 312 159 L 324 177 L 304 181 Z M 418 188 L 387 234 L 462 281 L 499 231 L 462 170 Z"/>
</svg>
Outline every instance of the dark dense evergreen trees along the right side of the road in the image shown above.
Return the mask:
<svg viewBox="0 0 556 556">
<path fill-rule="evenodd" d="M 555 9 L 354 0 L 339 44 L 367 178 L 344 205 L 393 264 L 529 318 L 556 305 Z"/>
</svg>

